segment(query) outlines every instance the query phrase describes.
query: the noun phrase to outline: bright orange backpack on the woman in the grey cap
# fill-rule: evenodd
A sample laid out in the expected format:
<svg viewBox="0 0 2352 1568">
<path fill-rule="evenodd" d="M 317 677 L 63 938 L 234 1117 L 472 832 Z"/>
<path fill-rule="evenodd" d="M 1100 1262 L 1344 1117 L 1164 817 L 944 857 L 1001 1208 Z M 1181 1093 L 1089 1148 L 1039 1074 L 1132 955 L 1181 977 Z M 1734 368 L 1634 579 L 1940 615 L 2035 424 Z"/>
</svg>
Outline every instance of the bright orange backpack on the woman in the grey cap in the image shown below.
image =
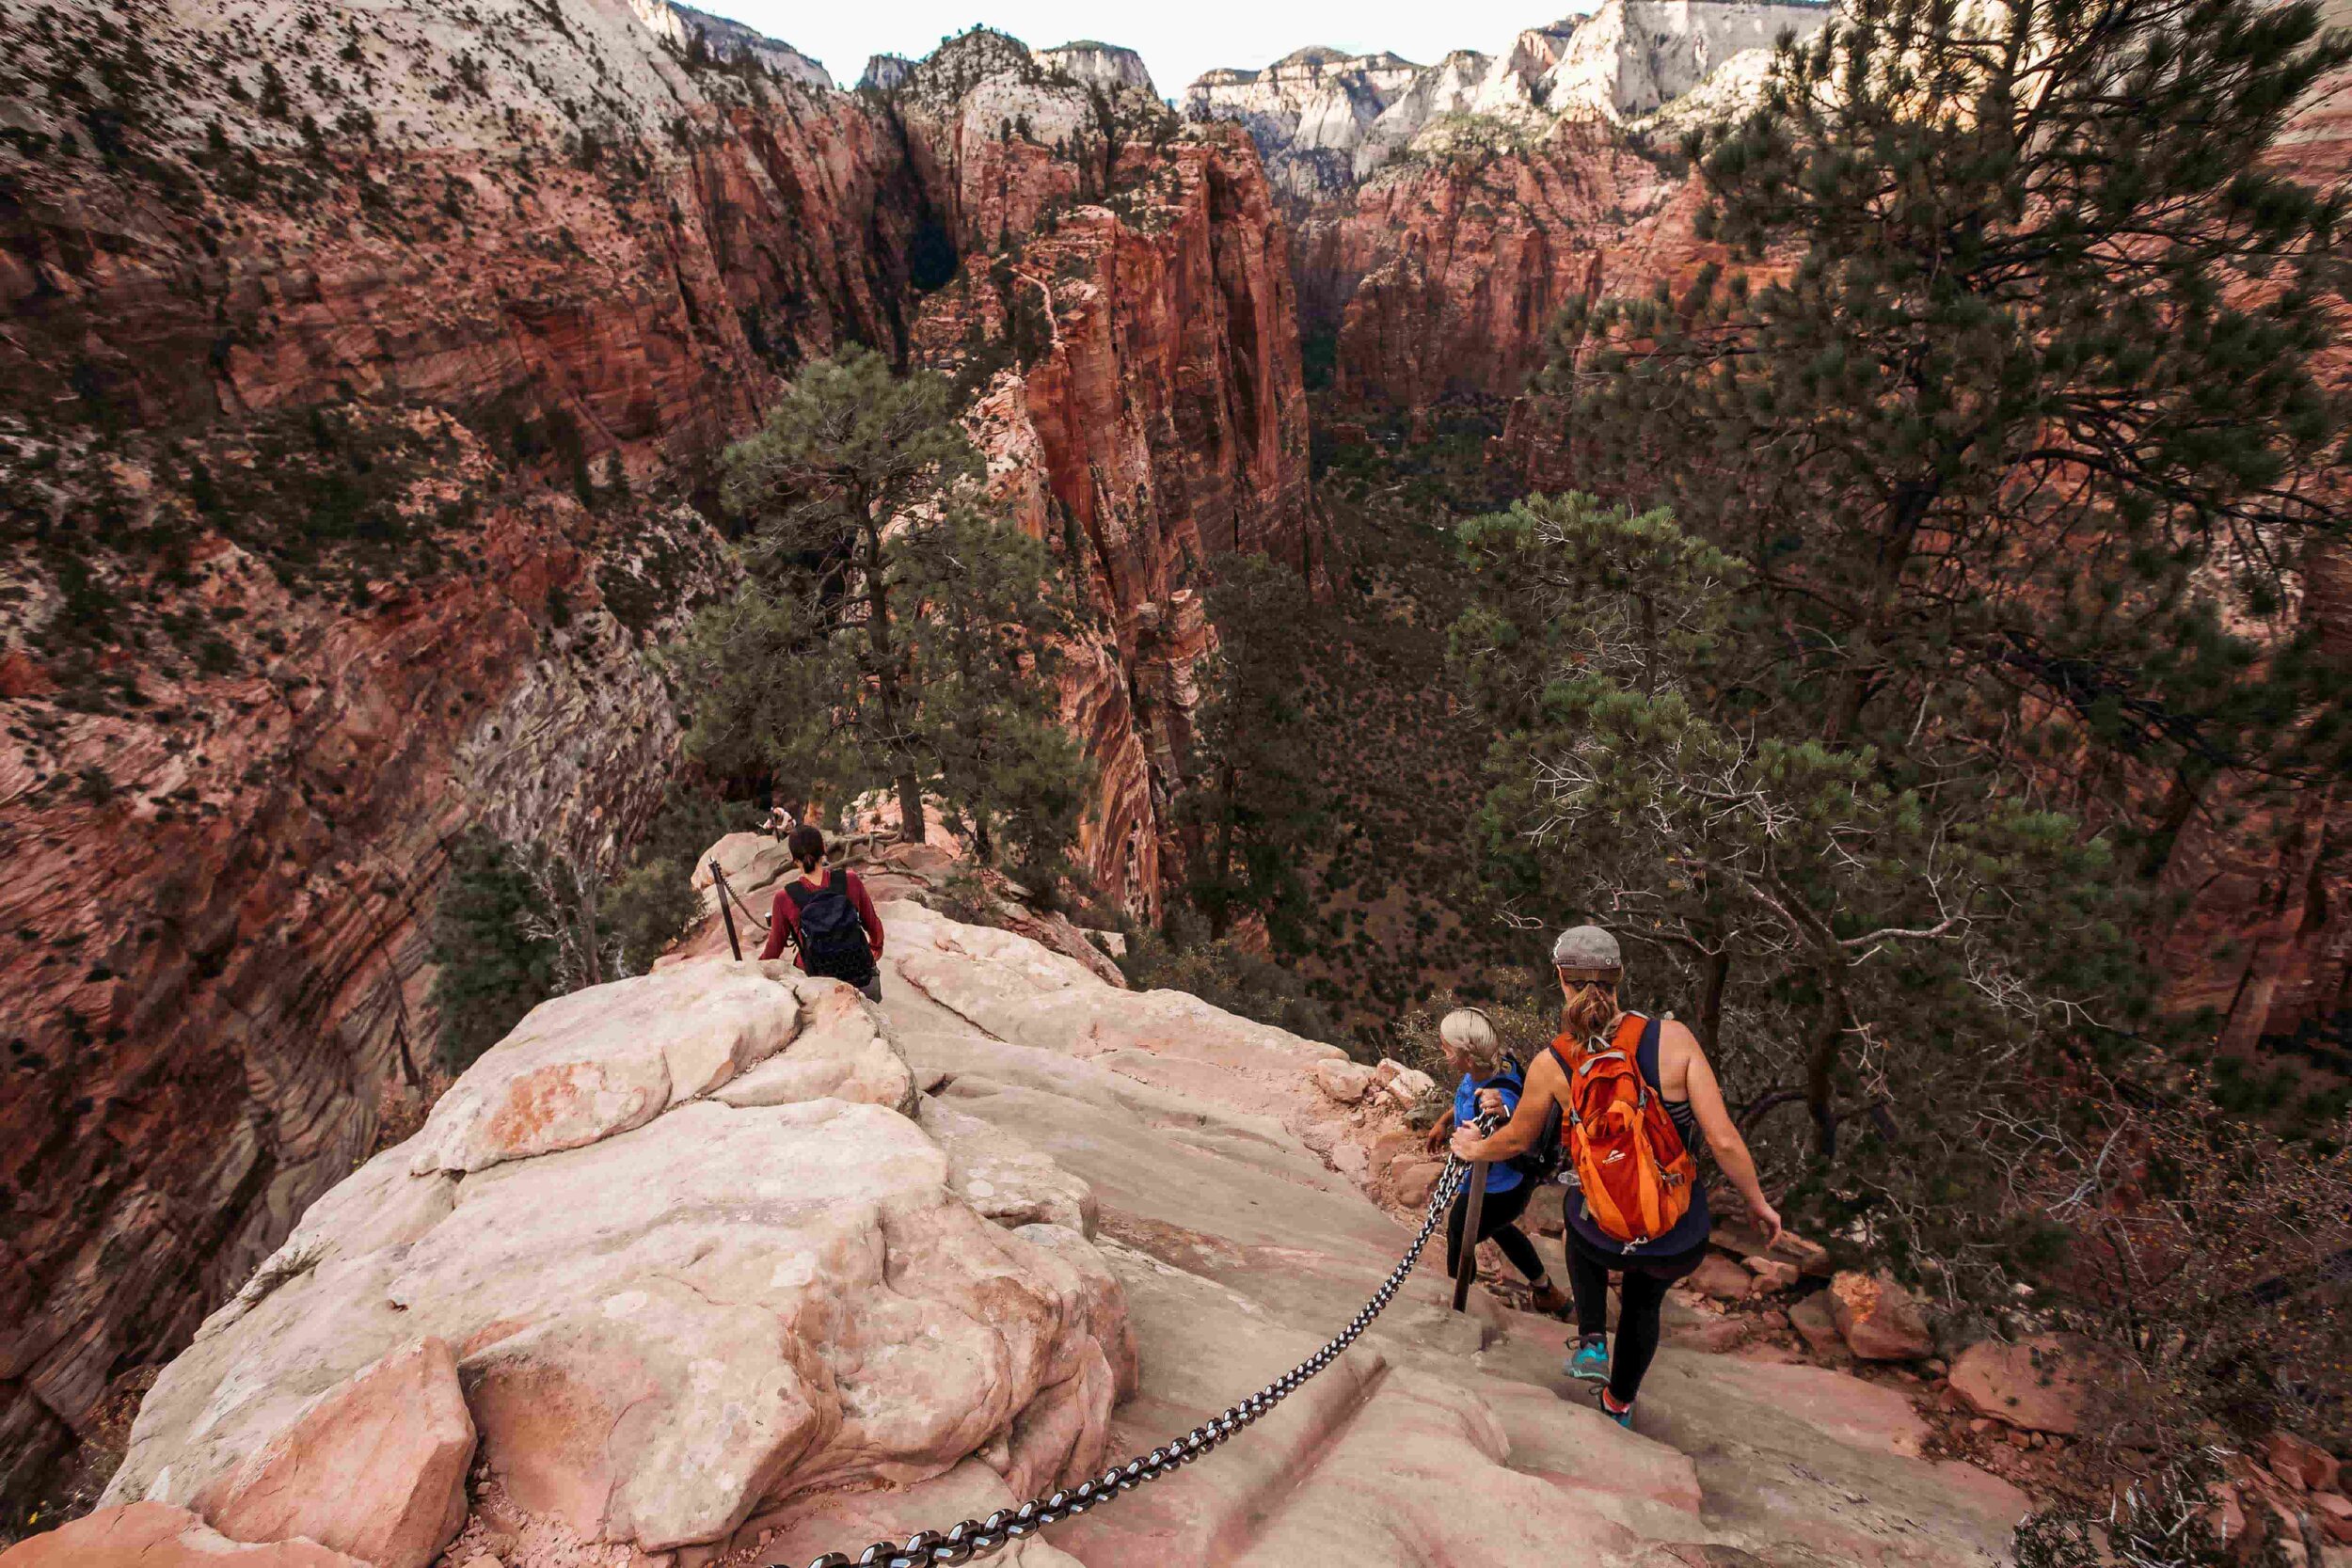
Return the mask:
<svg viewBox="0 0 2352 1568">
<path fill-rule="evenodd" d="M 1552 1041 L 1569 1079 L 1559 1143 L 1583 1182 L 1585 1213 L 1604 1237 L 1628 1246 L 1675 1229 L 1698 1182 L 1698 1161 L 1642 1077 L 1635 1053 L 1646 1027 L 1649 1018 L 1625 1013 L 1606 1051 L 1581 1048 L 1566 1034 Z"/>
</svg>

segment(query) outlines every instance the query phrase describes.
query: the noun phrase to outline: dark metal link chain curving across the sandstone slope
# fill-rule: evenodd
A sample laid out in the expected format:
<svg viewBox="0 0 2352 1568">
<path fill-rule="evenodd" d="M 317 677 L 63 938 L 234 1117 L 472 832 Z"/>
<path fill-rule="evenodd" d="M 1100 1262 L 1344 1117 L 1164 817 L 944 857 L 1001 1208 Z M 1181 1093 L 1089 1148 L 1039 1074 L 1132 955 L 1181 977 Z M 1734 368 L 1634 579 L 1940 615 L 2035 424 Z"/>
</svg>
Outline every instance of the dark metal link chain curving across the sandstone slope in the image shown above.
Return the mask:
<svg viewBox="0 0 2352 1568">
<path fill-rule="evenodd" d="M 1494 1119 L 1482 1117 L 1479 1128 L 1484 1131 Z M 903 1542 L 877 1540 L 856 1556 L 847 1552 L 826 1552 L 814 1559 L 809 1568 L 927 1568 L 929 1563 L 976 1563 L 983 1556 L 995 1556 L 1011 1542 L 1035 1535 L 1049 1523 L 1061 1523 L 1087 1509 L 1103 1507 L 1112 1502 L 1120 1493 L 1131 1493 L 1145 1481 L 1157 1481 L 1171 1474 L 1181 1465 L 1190 1465 L 1202 1458 L 1235 1432 L 1242 1432 L 1261 1415 L 1270 1413 L 1277 1403 L 1296 1394 L 1308 1378 L 1322 1368 L 1338 1361 L 1338 1356 L 1355 1345 L 1355 1338 L 1371 1326 L 1371 1319 L 1381 1316 L 1390 1298 L 1404 1286 L 1406 1274 L 1414 1272 L 1414 1262 L 1421 1260 L 1421 1248 L 1430 1244 L 1430 1234 L 1437 1229 L 1439 1218 L 1454 1204 L 1454 1194 L 1461 1192 L 1463 1178 L 1472 1171 L 1463 1159 L 1446 1154 L 1446 1168 L 1439 1173 L 1437 1185 L 1430 1187 L 1430 1208 L 1421 1215 L 1421 1232 L 1414 1244 L 1404 1248 L 1404 1258 L 1397 1267 L 1388 1272 L 1381 1288 L 1371 1293 L 1355 1319 L 1331 1335 L 1322 1349 L 1312 1356 L 1282 1373 L 1263 1389 L 1251 1394 L 1237 1406 L 1230 1406 L 1216 1420 L 1207 1420 L 1181 1439 L 1141 1453 L 1124 1465 L 1110 1465 L 1103 1474 L 1080 1481 L 1070 1488 L 1056 1488 L 1044 1497 L 1030 1497 L 1016 1509 L 997 1509 L 988 1519 L 964 1519 L 946 1530 L 920 1530 L 908 1535 Z M 1477 1234 L 1477 1232 L 1468 1232 Z M 788 1563 L 771 1563 L 769 1568 L 788 1568 Z"/>
</svg>

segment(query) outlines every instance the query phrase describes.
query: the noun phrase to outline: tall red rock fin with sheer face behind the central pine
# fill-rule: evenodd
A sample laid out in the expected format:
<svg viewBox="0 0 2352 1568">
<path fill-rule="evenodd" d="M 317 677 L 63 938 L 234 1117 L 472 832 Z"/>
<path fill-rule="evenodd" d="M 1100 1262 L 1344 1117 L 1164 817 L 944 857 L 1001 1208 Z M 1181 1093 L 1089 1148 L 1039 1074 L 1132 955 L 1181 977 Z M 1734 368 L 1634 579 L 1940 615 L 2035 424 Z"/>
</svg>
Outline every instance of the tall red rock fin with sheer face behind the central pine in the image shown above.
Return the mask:
<svg viewBox="0 0 2352 1568">
<path fill-rule="evenodd" d="M 1289 235 L 1240 134 L 1141 141 L 1155 101 L 1129 92 L 1105 122 L 1000 35 L 964 35 L 894 103 L 943 148 L 934 179 L 964 242 L 1009 247 L 924 303 L 917 357 L 967 378 L 1011 360 L 971 425 L 990 484 L 1094 609 L 1063 689 L 1098 764 L 1080 853 L 1157 914 L 1211 646 L 1202 576 L 1230 550 L 1322 571 Z M 1030 129 L 1007 141 L 1004 125 Z M 1075 155 L 1040 146 L 1056 139 Z"/>
</svg>

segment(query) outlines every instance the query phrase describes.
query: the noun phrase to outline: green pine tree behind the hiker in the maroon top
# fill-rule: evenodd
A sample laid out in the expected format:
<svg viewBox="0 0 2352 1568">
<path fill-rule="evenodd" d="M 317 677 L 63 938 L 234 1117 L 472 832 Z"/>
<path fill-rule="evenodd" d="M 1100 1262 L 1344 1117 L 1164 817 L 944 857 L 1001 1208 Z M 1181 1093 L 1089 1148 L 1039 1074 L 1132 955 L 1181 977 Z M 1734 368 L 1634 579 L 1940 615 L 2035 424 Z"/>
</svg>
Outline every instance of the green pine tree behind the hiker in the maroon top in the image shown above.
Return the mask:
<svg viewBox="0 0 2352 1568">
<path fill-rule="evenodd" d="M 978 475 L 943 376 L 809 364 L 727 451 L 750 571 L 670 661 L 708 766 L 833 806 L 887 785 L 913 842 L 929 797 L 983 858 L 1051 875 L 1089 778 L 1054 684 L 1068 590 Z"/>
</svg>

